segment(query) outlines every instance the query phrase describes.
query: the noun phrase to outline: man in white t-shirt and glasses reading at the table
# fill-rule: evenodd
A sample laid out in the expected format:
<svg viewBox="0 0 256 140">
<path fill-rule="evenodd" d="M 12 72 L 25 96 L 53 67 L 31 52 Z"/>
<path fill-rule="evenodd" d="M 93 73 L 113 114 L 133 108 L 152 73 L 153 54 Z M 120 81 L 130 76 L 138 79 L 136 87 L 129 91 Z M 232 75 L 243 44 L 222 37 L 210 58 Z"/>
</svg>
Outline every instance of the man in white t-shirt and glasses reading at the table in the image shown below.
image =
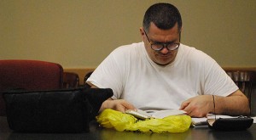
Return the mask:
<svg viewBox="0 0 256 140">
<path fill-rule="evenodd" d="M 116 48 L 87 81 L 91 87 L 113 89 L 113 97 L 101 110 L 183 109 L 193 117 L 214 112 L 247 115 L 247 97 L 211 57 L 180 43 L 181 32 L 181 15 L 172 4 L 148 8 L 140 28 L 143 42 Z"/>
</svg>

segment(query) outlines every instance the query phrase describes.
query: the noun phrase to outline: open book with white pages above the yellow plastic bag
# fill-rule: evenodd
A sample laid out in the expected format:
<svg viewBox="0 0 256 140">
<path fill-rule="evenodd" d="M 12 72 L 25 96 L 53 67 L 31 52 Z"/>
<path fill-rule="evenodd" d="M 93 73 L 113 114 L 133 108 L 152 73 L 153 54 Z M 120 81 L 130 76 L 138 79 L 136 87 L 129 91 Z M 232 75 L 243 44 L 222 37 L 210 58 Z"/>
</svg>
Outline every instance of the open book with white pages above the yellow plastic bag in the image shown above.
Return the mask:
<svg viewBox="0 0 256 140">
<path fill-rule="evenodd" d="M 145 120 L 148 118 L 158 118 L 162 119 L 169 115 L 183 115 L 186 112 L 177 109 L 166 109 L 166 110 L 142 110 L 137 109 L 137 111 L 128 109 L 125 111 L 126 114 L 133 115 L 139 119 Z"/>
</svg>

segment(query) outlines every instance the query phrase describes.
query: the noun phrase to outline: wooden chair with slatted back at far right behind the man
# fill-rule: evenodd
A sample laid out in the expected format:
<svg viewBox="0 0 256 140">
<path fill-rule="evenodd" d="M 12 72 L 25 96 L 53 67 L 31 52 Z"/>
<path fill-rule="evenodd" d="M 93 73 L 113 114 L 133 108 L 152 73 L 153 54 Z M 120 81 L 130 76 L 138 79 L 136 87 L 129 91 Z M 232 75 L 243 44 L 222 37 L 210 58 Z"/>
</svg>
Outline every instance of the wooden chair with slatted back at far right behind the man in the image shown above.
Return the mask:
<svg viewBox="0 0 256 140">
<path fill-rule="evenodd" d="M 256 84 L 256 71 L 226 70 L 226 73 L 236 83 L 241 92 L 247 96 L 251 108 L 253 87 Z"/>
</svg>

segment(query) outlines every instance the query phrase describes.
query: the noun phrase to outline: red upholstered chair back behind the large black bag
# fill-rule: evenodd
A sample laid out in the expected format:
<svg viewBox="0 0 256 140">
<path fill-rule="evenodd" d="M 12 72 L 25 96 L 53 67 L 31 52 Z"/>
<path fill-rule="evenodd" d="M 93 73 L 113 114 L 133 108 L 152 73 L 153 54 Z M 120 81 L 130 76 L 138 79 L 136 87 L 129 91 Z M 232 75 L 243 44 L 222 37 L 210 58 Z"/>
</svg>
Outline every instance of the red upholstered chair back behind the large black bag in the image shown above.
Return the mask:
<svg viewBox="0 0 256 140">
<path fill-rule="evenodd" d="M 62 88 L 62 77 L 60 64 L 38 60 L 0 60 L 0 115 L 6 115 L 3 92 Z"/>
</svg>

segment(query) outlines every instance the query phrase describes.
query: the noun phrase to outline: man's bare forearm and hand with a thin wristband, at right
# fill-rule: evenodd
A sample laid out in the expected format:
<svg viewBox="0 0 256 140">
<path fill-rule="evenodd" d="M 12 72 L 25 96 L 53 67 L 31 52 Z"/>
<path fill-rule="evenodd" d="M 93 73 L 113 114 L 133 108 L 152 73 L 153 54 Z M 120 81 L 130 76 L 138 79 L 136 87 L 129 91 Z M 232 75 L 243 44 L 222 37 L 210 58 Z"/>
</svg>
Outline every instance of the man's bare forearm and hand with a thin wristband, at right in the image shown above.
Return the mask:
<svg viewBox="0 0 256 140">
<path fill-rule="evenodd" d="M 231 93 L 228 97 L 214 95 L 215 110 L 212 95 L 200 95 L 189 98 L 181 104 L 181 108 L 193 117 L 205 117 L 208 113 L 220 115 L 249 115 L 249 102 L 240 91 Z"/>
</svg>

